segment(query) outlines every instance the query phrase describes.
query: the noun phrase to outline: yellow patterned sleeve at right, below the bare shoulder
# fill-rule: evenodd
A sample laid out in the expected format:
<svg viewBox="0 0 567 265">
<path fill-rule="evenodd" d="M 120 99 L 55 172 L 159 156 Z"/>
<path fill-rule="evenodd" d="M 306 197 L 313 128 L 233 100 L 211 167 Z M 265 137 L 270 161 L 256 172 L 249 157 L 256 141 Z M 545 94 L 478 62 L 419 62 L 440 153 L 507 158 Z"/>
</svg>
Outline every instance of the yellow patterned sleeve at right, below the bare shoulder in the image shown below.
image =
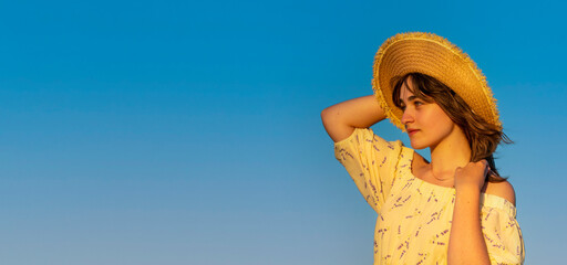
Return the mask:
<svg viewBox="0 0 567 265">
<path fill-rule="evenodd" d="M 483 208 L 481 220 L 491 263 L 524 264 L 524 239 L 516 221 L 516 208 L 504 199 L 494 201 L 497 203 Z"/>
</svg>

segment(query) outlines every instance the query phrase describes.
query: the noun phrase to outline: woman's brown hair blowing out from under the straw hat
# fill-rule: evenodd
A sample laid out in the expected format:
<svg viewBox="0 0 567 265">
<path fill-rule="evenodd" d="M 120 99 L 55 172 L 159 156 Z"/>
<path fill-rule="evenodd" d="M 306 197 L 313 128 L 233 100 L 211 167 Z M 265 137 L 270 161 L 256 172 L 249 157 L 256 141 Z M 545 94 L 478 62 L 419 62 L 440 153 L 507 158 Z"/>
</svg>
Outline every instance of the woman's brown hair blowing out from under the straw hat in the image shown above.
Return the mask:
<svg viewBox="0 0 567 265">
<path fill-rule="evenodd" d="M 468 146 L 471 147 L 471 161 L 477 162 L 482 159 L 488 161 L 493 173 L 486 176 L 486 181 L 502 182 L 507 178 L 499 176 L 494 163 L 493 153 L 496 147 L 504 141 L 513 141 L 502 131 L 499 126 L 487 123 L 458 96 L 453 89 L 436 78 L 421 73 L 409 73 L 404 76 L 392 78 L 392 100 L 401 108 L 400 91 L 402 85 L 412 77 L 412 93 L 426 103 L 436 103 L 443 112 L 464 131 Z M 408 86 L 408 84 L 406 84 Z M 410 86 L 408 86 L 410 87 Z"/>
</svg>

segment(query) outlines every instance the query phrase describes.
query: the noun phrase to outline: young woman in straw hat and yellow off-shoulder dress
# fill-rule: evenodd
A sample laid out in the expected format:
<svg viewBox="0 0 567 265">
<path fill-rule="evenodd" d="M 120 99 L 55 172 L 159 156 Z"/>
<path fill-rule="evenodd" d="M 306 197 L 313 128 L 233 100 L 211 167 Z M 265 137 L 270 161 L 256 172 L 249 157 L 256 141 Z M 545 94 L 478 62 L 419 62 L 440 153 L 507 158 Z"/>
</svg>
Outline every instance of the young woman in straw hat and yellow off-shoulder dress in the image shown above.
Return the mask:
<svg viewBox="0 0 567 265">
<path fill-rule="evenodd" d="M 502 131 L 474 62 L 431 33 L 398 34 L 374 61 L 374 95 L 321 113 L 346 167 L 378 212 L 374 264 L 522 264 L 515 192 L 496 170 Z M 369 129 L 389 118 L 411 147 Z M 430 148 L 431 162 L 414 149 Z"/>
</svg>

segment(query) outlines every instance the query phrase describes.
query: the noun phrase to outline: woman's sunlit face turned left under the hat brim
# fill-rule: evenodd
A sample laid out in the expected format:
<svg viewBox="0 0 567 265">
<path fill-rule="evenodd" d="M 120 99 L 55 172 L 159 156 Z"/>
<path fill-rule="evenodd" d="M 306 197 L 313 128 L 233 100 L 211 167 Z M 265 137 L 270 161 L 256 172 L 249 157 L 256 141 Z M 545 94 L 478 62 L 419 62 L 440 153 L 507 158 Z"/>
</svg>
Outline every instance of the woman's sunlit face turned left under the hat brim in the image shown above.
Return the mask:
<svg viewBox="0 0 567 265">
<path fill-rule="evenodd" d="M 457 126 L 436 103 L 426 103 L 415 97 L 411 91 L 413 82 L 410 76 L 400 91 L 402 124 L 405 125 L 412 148 L 434 148 L 453 134 Z"/>
</svg>

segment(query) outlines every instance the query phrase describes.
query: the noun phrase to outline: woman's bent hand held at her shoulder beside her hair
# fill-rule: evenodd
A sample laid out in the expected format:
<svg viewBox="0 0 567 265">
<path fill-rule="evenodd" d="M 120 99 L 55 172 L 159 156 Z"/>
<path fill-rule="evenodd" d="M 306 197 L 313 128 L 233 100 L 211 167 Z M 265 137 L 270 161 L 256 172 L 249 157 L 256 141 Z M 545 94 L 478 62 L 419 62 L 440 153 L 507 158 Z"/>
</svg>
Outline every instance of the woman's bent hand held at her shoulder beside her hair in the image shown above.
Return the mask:
<svg viewBox="0 0 567 265">
<path fill-rule="evenodd" d="M 486 173 L 488 173 L 489 170 L 491 168 L 485 159 L 478 162 L 468 162 L 464 168 L 456 168 L 455 190 L 461 188 L 474 188 L 481 191 Z"/>
</svg>

